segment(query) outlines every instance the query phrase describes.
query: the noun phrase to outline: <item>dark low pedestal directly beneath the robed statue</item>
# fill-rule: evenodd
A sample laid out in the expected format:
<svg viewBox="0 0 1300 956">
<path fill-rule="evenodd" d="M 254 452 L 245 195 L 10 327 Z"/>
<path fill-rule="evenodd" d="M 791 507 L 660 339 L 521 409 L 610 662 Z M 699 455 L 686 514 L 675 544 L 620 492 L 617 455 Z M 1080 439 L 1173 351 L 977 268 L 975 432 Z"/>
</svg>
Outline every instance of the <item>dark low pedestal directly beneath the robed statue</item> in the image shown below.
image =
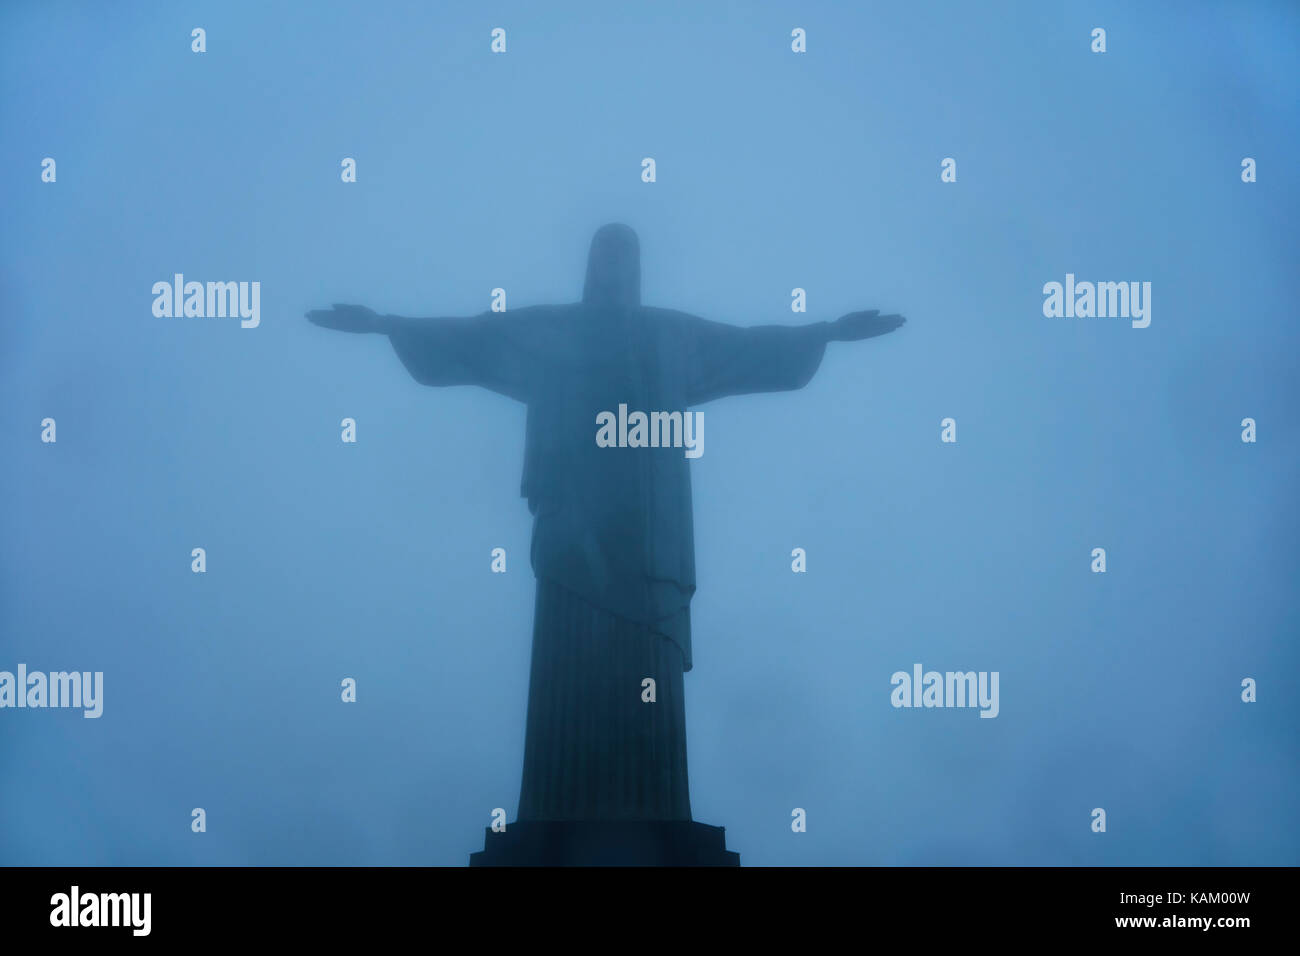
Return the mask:
<svg viewBox="0 0 1300 956">
<path fill-rule="evenodd" d="M 740 866 L 724 829 L 694 821 L 525 821 L 486 830 L 471 866 Z"/>
</svg>

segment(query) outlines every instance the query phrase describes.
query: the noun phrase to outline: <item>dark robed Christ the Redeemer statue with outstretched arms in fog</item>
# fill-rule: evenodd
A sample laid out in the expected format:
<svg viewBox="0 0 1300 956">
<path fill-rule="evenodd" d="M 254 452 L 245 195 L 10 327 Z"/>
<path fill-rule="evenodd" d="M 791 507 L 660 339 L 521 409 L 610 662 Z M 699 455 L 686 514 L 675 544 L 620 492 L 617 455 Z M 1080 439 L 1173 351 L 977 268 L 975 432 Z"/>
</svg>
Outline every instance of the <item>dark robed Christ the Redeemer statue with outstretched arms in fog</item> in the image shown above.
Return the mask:
<svg viewBox="0 0 1300 956">
<path fill-rule="evenodd" d="M 530 861 L 573 862 L 582 853 L 559 847 L 555 832 L 703 827 L 690 822 L 682 696 L 696 591 L 690 459 L 681 446 L 601 445 L 597 416 L 619 406 L 684 414 L 725 395 L 798 389 L 827 342 L 883 336 L 904 320 L 853 312 L 741 328 L 642 306 L 640 246 L 624 225 L 595 233 L 575 304 L 469 319 L 334 306 L 308 319 L 386 334 L 422 385 L 480 385 L 528 406 L 521 494 L 534 518 L 537 605 L 519 818 L 507 832 L 549 829 L 546 849 L 533 847 L 549 858 Z M 645 678 L 654 702 L 642 700 Z M 628 861 L 650 857 L 629 851 Z"/>
</svg>

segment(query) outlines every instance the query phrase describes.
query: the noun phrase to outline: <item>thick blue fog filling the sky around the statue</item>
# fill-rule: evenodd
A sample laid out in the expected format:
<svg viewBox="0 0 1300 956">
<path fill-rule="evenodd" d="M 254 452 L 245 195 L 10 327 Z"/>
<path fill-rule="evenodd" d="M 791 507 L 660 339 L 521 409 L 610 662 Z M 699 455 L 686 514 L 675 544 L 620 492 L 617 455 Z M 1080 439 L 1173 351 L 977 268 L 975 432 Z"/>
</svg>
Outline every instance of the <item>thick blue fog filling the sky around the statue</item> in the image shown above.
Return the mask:
<svg viewBox="0 0 1300 956">
<path fill-rule="evenodd" d="M 459 866 L 515 819 L 525 406 L 304 313 L 577 302 L 616 221 L 647 306 L 907 319 L 701 407 L 694 819 L 1295 865 L 1296 13 L 1052 7 L 6 7 L 0 671 L 103 683 L 0 709 L 0 861 Z M 157 315 L 177 273 L 256 324 Z M 1067 276 L 1145 319 L 1045 315 Z M 915 665 L 996 717 L 894 706 Z"/>
</svg>

